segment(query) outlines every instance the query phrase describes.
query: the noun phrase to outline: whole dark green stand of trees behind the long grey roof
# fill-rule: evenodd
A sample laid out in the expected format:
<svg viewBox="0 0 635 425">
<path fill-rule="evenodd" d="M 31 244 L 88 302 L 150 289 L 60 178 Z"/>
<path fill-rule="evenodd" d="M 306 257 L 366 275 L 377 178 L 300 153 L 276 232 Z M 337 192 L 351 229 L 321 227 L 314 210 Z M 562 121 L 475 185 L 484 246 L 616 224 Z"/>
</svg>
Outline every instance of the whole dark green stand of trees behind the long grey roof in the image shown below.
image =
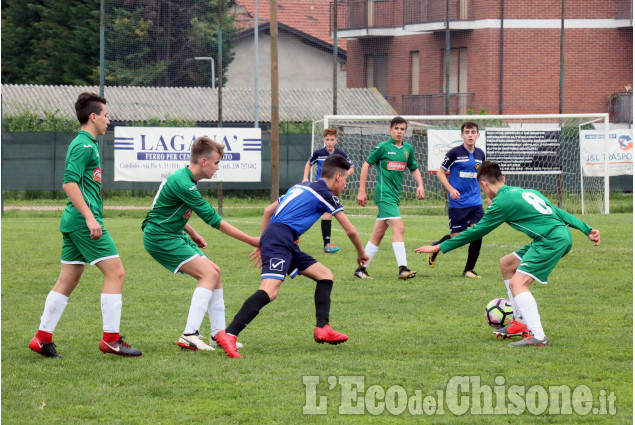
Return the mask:
<svg viewBox="0 0 635 425">
<path fill-rule="evenodd" d="M 223 0 L 223 70 L 234 17 Z M 100 0 L 2 0 L 2 82 L 99 83 Z M 107 85 L 207 86 L 218 55 L 217 0 L 106 0 Z"/>
</svg>

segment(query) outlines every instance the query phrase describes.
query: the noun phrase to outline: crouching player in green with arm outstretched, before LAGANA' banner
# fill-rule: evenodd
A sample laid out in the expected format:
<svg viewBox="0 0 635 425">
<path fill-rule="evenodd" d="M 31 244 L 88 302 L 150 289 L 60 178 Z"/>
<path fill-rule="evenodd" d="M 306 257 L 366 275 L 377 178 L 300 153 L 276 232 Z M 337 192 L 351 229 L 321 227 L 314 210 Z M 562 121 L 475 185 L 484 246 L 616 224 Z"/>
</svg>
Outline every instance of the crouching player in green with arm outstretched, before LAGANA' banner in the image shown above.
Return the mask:
<svg viewBox="0 0 635 425">
<path fill-rule="evenodd" d="M 224 146 L 208 137 L 199 137 L 192 144 L 190 164 L 168 176 L 161 183 L 152 207 L 143 221 L 143 245 L 146 251 L 172 273 L 185 273 L 198 281 L 192 295 L 190 311 L 181 348 L 213 350 L 198 331 L 209 313 L 212 337 L 225 329 L 225 301 L 221 285 L 220 267 L 203 254 L 205 239 L 187 222 L 192 212 L 207 224 L 228 236 L 258 248 L 258 238 L 249 236 L 222 220 L 212 206 L 203 199 L 196 184 L 211 179 L 218 171 Z"/>
</svg>

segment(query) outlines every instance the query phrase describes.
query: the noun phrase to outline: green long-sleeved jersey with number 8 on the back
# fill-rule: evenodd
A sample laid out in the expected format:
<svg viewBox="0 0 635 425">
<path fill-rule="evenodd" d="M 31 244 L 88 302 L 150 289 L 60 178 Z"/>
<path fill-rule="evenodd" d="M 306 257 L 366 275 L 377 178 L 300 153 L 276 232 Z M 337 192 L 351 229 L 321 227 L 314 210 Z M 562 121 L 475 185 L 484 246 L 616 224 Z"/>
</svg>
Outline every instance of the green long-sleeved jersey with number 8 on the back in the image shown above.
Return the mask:
<svg viewBox="0 0 635 425">
<path fill-rule="evenodd" d="M 560 226 L 574 227 L 589 235 L 591 227 L 568 212 L 555 207 L 540 192 L 520 187 L 503 186 L 492 200 L 485 215 L 474 227 L 442 242 L 442 252 L 473 242 L 487 235 L 502 223 L 537 240 L 548 238 Z"/>
</svg>

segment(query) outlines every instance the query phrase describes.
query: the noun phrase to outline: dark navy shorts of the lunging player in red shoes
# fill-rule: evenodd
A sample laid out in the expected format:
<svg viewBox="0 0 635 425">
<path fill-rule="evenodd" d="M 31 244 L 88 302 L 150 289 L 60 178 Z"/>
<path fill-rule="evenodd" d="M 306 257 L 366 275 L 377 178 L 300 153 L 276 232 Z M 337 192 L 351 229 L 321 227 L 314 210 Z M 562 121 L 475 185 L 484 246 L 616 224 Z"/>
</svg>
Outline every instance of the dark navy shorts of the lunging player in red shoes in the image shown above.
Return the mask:
<svg viewBox="0 0 635 425">
<path fill-rule="evenodd" d="M 289 226 L 274 223 L 267 227 L 260 237 L 262 279 L 284 280 L 286 275 L 293 279 L 302 270 L 317 263 L 315 258 L 300 251 L 296 239 Z"/>
</svg>

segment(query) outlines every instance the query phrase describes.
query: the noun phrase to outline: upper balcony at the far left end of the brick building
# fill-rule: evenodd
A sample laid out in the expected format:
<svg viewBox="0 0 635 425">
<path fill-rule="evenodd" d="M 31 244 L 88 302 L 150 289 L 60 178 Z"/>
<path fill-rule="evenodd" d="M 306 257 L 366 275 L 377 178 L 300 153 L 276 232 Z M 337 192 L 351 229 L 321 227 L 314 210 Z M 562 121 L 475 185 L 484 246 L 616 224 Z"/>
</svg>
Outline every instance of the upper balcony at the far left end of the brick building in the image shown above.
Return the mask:
<svg viewBox="0 0 635 425">
<path fill-rule="evenodd" d="M 395 21 L 398 0 L 348 0 L 337 3 L 337 30 L 367 30 L 371 28 L 401 27 Z M 330 29 L 333 31 L 333 3 L 330 4 Z"/>
</svg>

